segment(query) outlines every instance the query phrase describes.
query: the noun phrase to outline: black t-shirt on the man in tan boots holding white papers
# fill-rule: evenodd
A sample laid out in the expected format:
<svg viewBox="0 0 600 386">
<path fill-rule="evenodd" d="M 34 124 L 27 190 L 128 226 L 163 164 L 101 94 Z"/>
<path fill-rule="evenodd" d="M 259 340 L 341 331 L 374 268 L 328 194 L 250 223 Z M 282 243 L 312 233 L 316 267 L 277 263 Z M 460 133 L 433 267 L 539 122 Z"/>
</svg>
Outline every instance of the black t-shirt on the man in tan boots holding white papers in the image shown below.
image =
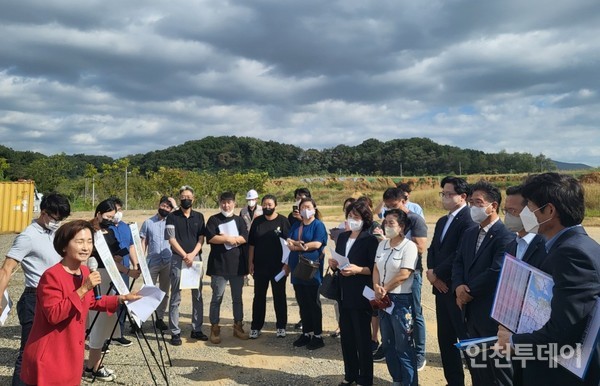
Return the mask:
<svg viewBox="0 0 600 386">
<path fill-rule="evenodd" d="M 225 217 L 221 213 L 217 213 L 210 216 L 208 223 L 206 224 L 206 239 L 210 240 L 221 234 L 219 225 L 235 221 L 235 225 L 238 230 L 238 234 L 244 239 L 248 240 L 248 229 L 246 228 L 246 222 L 243 218 L 237 215 L 231 217 Z M 246 257 L 241 246 L 227 249 L 225 244 L 211 244 L 210 254 L 208 255 L 208 266 L 206 268 L 206 274 L 209 276 L 225 276 L 225 275 L 246 275 L 248 273 L 248 266 L 246 264 Z"/>
</svg>

